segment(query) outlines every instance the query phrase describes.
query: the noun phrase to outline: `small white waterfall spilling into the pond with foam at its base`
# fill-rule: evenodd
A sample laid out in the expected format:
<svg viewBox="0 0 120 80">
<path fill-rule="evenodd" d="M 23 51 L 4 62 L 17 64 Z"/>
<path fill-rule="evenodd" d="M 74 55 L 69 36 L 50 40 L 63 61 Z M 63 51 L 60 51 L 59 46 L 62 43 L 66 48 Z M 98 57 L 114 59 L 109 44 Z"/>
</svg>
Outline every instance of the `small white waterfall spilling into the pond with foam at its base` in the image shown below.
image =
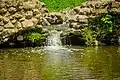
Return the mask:
<svg viewBox="0 0 120 80">
<path fill-rule="evenodd" d="M 45 51 L 53 53 L 64 53 L 66 50 L 68 51 L 67 48 L 62 46 L 60 38 L 62 31 L 52 30 L 49 33 L 50 35 L 47 37 L 46 46 L 44 47 Z"/>
</svg>

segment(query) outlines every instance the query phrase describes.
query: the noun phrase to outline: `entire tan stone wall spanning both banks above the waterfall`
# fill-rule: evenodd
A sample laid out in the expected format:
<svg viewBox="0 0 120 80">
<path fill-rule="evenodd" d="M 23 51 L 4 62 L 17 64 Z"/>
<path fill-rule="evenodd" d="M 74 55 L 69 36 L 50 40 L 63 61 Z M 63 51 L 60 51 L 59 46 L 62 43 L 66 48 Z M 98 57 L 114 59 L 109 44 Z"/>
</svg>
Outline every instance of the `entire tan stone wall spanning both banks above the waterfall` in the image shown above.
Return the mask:
<svg viewBox="0 0 120 80">
<path fill-rule="evenodd" d="M 38 0 L 0 0 L 0 43 L 36 26 L 64 24 L 73 30 L 81 29 L 90 19 L 108 13 L 107 6 L 106 0 L 89 0 L 70 10 L 49 13 Z M 120 3 L 113 2 L 111 11 L 120 13 Z"/>
</svg>

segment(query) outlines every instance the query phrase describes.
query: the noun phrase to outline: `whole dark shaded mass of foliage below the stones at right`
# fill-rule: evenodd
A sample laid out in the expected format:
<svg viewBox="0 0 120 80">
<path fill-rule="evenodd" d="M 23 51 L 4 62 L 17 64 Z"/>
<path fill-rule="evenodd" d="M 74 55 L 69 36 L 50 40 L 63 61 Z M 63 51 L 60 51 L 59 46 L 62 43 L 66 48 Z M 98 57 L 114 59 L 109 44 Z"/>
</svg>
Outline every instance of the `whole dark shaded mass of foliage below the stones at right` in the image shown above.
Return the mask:
<svg viewBox="0 0 120 80">
<path fill-rule="evenodd" d="M 120 14 L 106 13 L 89 22 L 90 30 L 95 33 L 96 40 L 106 44 L 117 44 L 119 38 Z M 86 31 L 87 33 L 89 31 Z"/>
</svg>

